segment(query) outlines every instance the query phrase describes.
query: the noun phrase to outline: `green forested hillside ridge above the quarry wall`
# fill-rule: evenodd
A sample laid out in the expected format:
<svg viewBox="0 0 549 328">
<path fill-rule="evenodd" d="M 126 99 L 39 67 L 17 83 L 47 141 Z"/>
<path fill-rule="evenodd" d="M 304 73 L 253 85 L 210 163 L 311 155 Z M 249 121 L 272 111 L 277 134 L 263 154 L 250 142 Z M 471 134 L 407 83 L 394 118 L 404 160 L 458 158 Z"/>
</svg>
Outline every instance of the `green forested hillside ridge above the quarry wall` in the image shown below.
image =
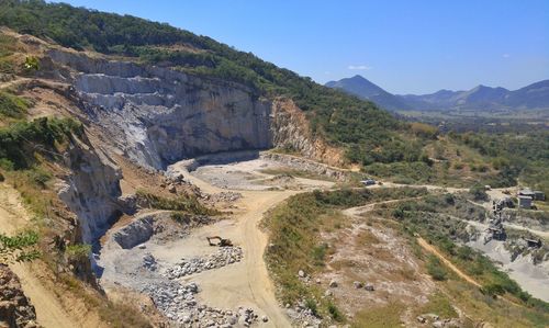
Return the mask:
<svg viewBox="0 0 549 328">
<path fill-rule="evenodd" d="M 436 134 L 436 128 L 427 125 L 416 124 L 408 131 L 408 124 L 371 102 L 167 24 L 37 0 L 1 2 L 0 24 L 76 49 L 135 56 L 145 63 L 240 82 L 256 97 L 290 98 L 309 112 L 315 134 L 335 145 L 349 146 L 349 159 L 357 162 L 416 161 L 421 143 L 410 143 L 402 134 L 412 133 L 419 139 Z"/>
</svg>

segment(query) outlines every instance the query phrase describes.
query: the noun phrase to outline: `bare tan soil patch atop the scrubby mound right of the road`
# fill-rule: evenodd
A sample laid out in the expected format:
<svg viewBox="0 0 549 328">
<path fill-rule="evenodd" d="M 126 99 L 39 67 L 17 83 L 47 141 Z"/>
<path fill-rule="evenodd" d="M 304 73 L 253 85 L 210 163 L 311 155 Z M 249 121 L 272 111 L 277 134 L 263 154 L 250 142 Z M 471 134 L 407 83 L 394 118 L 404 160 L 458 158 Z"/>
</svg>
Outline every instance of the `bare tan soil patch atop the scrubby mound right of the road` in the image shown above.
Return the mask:
<svg viewBox="0 0 549 328">
<path fill-rule="evenodd" d="M 330 256 L 321 281 L 338 281 L 339 286 L 332 291 L 347 315 L 400 302 L 410 305 L 401 319 L 406 327 L 413 327 L 416 321 L 412 308 L 428 302 L 435 284 L 422 272 L 406 240 L 369 214 L 379 204 L 401 201 L 382 201 L 343 211 L 350 218 L 350 225 L 323 234 L 323 239 L 329 242 L 335 253 Z M 357 290 L 354 281 L 371 283 L 376 291 Z"/>
</svg>

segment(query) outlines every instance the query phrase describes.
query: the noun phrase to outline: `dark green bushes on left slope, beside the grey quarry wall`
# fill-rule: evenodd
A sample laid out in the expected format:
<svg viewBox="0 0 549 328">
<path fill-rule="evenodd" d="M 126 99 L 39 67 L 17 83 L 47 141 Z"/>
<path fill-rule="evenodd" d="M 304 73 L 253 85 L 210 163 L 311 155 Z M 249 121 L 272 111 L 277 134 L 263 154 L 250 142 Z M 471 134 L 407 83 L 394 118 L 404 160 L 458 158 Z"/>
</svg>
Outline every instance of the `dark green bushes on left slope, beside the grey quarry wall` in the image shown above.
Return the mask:
<svg viewBox="0 0 549 328">
<path fill-rule="evenodd" d="M 41 117 L 32 122 L 18 122 L 0 128 L 0 161 L 2 167 L 29 168 L 34 163 L 34 151 L 55 154 L 56 144 L 70 134 L 81 133 L 81 125 L 71 118 Z M 37 177 L 38 180 L 44 177 Z"/>
</svg>

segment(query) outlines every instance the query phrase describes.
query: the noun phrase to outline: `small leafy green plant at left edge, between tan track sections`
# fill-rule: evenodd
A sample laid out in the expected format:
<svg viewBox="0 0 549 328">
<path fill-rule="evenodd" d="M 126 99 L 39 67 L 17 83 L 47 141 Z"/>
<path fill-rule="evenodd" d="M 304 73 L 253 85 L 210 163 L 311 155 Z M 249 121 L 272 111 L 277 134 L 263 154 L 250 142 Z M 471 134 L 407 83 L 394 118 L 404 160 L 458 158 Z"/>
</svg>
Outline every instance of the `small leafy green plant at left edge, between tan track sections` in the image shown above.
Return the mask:
<svg viewBox="0 0 549 328">
<path fill-rule="evenodd" d="M 0 234 L 0 263 L 26 262 L 37 259 L 40 252 L 36 249 L 38 234 L 24 231 L 8 237 Z"/>
</svg>

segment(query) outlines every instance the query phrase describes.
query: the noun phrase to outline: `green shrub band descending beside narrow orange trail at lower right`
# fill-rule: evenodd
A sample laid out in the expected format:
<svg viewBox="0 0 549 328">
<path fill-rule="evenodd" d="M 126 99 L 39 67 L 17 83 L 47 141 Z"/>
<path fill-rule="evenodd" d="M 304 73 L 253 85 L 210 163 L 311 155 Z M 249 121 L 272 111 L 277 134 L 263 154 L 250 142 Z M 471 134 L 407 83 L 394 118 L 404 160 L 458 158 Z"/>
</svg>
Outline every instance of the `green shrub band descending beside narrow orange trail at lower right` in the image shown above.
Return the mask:
<svg viewBox="0 0 549 328">
<path fill-rule="evenodd" d="M 482 284 L 480 291 L 486 298 L 485 303 L 495 301 L 490 298 L 497 295 L 505 295 L 513 302 L 520 304 L 524 318 L 533 317 L 535 321 L 539 316 L 549 319 L 549 304 L 538 298 L 531 297 L 527 292 L 512 280 L 480 251 L 468 246 L 459 246 L 456 241 L 468 240 L 467 225 L 459 219 L 448 216 L 449 213 L 460 215 L 475 211 L 477 207 L 469 207 L 467 200 L 451 195 L 429 195 L 416 202 L 402 202 L 382 210 L 385 214 L 401 223 L 402 229 L 411 239 L 415 239 L 418 234 L 449 259 L 461 271 L 472 276 Z M 467 210 L 469 208 L 469 210 Z M 380 213 L 382 214 L 382 213 Z M 469 213 L 471 216 L 471 213 Z M 434 256 L 425 258 L 428 273 L 445 285 L 453 285 L 450 281 L 456 276 L 449 274 L 448 269 Z M 468 285 L 468 289 L 475 289 Z M 492 298 L 493 299 L 493 298 Z M 533 321 L 534 323 L 534 321 Z"/>
</svg>

